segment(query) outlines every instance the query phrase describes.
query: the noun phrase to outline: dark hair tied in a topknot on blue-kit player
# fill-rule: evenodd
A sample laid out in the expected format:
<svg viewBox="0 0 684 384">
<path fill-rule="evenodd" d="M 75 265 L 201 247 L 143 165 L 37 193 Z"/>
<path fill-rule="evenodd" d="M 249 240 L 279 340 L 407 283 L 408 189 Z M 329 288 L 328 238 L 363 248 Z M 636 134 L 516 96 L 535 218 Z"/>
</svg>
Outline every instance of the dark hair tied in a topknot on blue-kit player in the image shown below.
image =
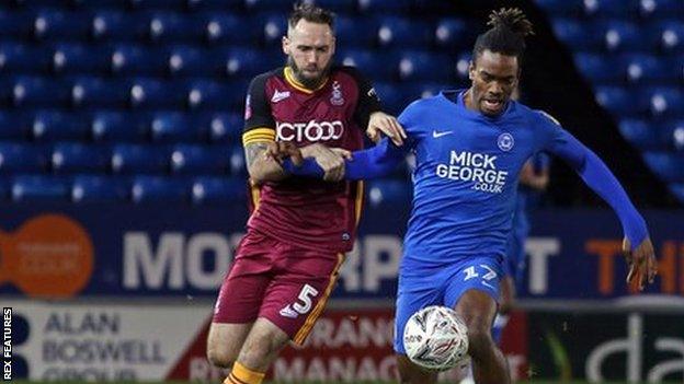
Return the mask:
<svg viewBox="0 0 684 384">
<path fill-rule="evenodd" d="M 517 57 L 518 65 L 525 53 L 525 36 L 534 35 L 532 23 L 517 8 L 501 8 L 489 14 L 490 28 L 479 35 L 472 48 L 475 61 L 485 50 Z"/>
</svg>

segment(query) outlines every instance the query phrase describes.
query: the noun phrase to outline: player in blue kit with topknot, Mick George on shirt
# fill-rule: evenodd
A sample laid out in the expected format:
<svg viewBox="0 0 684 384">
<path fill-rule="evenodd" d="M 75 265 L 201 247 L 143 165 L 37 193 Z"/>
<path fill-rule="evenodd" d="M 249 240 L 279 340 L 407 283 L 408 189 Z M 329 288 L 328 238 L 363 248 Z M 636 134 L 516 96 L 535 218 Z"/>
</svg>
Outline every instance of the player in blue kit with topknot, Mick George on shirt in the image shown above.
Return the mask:
<svg viewBox="0 0 684 384">
<path fill-rule="evenodd" d="M 383 139 L 345 161 L 346 179 L 371 178 L 388 174 L 407 151 L 415 153 L 413 210 L 396 310 L 395 350 L 402 383 L 436 382 L 436 373 L 406 357 L 401 337 L 411 314 L 433 304 L 454 307 L 465 319 L 475 382 L 511 382 L 490 327 L 517 175 L 534 153 L 560 156 L 616 211 L 625 233 L 629 282 L 643 288 L 657 271 L 646 223 L 605 164 L 552 117 L 511 100 L 532 24 L 522 11 L 502 9 L 490 14 L 489 26 L 475 44 L 469 89 L 443 91 L 409 105 L 399 116 L 408 135 L 403 147 Z M 270 153 L 289 172 L 323 174 L 314 160 L 293 165 L 290 158 L 301 159 L 288 147 L 272 144 Z"/>
</svg>

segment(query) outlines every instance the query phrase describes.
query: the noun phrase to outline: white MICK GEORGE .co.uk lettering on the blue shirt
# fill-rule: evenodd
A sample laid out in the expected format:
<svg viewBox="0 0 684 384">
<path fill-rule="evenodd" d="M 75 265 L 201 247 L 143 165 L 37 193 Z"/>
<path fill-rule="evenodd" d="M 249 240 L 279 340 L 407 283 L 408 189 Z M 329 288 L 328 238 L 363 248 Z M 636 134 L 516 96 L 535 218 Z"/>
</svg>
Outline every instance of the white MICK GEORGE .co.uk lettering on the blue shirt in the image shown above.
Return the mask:
<svg viewBox="0 0 684 384">
<path fill-rule="evenodd" d="M 448 164 L 437 164 L 437 177 L 472 182 L 470 189 L 501 194 L 509 177 L 508 171 L 497 166 L 497 155 L 477 152 L 451 151 Z"/>
</svg>

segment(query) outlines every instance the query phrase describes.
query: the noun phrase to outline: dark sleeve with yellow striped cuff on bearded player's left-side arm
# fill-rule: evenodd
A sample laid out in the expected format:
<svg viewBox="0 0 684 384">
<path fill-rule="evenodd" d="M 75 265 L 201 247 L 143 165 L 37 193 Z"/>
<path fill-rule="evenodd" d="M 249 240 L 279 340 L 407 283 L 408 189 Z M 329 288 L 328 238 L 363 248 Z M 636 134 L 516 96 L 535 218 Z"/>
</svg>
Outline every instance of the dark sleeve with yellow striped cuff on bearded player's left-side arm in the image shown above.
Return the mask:
<svg viewBox="0 0 684 384">
<path fill-rule="evenodd" d="M 275 121 L 266 98 L 269 73 L 252 79 L 244 102 L 244 130 L 242 146 L 275 141 Z"/>
</svg>

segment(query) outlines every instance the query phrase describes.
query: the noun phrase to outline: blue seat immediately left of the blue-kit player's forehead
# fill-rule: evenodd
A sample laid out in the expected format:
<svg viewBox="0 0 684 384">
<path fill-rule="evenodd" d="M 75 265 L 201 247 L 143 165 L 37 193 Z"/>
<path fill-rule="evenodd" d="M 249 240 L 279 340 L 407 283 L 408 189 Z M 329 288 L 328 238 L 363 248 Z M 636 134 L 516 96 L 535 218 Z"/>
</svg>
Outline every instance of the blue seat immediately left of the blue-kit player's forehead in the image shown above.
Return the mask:
<svg viewBox="0 0 684 384">
<path fill-rule="evenodd" d="M 446 54 L 404 50 L 399 59 L 399 78 L 403 81 L 449 81 L 454 60 Z"/>
</svg>

